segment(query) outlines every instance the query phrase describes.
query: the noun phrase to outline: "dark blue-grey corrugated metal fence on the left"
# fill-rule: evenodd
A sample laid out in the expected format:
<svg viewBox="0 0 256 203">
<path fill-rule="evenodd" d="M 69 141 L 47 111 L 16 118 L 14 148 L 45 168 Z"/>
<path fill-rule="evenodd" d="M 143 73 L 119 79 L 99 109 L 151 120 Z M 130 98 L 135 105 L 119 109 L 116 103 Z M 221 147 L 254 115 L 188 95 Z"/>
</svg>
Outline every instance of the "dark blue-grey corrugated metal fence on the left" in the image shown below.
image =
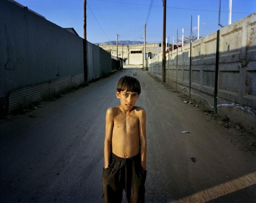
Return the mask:
<svg viewBox="0 0 256 203">
<path fill-rule="evenodd" d="M 0 111 L 84 82 L 83 38 L 6 0 L 0 1 Z M 111 55 L 87 43 L 88 81 L 111 72 Z"/>
</svg>

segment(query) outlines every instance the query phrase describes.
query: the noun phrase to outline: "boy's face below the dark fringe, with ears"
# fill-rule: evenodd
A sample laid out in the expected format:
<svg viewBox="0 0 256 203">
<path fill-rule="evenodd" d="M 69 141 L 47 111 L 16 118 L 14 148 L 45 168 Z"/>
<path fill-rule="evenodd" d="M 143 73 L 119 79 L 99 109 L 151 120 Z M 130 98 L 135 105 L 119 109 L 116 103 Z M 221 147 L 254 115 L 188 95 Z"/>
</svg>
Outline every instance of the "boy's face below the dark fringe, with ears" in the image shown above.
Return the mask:
<svg viewBox="0 0 256 203">
<path fill-rule="evenodd" d="M 137 92 L 128 92 L 127 90 L 121 92 L 116 91 L 116 97 L 120 99 L 121 106 L 129 110 L 135 105 L 139 94 Z"/>
</svg>

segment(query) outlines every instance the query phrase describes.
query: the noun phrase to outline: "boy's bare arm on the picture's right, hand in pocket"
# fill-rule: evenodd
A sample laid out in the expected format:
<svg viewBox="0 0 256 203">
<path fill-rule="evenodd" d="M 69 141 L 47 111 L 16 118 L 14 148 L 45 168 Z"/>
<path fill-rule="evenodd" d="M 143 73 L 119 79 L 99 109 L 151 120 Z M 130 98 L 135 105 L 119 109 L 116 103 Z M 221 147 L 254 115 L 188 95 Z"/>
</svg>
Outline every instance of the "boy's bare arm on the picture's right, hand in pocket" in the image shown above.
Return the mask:
<svg viewBox="0 0 256 203">
<path fill-rule="evenodd" d="M 146 170 L 147 141 L 146 141 L 146 111 L 141 108 L 139 111 L 141 166 Z"/>
</svg>

